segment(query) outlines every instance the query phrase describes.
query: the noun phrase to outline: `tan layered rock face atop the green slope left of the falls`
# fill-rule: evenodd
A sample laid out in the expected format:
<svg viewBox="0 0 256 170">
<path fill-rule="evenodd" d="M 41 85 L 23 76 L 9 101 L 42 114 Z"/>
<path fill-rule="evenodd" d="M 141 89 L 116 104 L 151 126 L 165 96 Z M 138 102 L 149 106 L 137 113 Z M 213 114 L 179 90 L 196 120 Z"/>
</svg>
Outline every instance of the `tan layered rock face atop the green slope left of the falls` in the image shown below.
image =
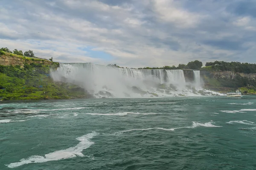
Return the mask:
<svg viewBox="0 0 256 170">
<path fill-rule="evenodd" d="M 37 58 L 29 58 L 28 57 L 17 57 L 15 54 L 10 54 L 10 55 L 0 55 L 0 65 L 20 65 L 23 67 L 25 63 L 30 64 L 30 63 L 45 63 L 45 64 L 51 64 L 50 61 L 47 59 L 37 59 Z"/>
</svg>

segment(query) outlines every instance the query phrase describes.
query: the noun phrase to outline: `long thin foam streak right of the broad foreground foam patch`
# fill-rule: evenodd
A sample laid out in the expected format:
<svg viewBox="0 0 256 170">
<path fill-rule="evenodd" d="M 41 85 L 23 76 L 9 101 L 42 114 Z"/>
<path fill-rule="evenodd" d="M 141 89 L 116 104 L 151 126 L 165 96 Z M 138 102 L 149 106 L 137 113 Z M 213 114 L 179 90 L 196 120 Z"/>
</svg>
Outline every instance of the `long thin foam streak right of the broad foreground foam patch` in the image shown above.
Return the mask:
<svg viewBox="0 0 256 170">
<path fill-rule="evenodd" d="M 153 130 L 153 129 L 159 129 L 159 130 L 167 130 L 167 131 L 174 131 L 176 129 L 181 129 L 181 128 L 195 128 L 198 126 L 204 126 L 204 127 L 222 127 L 222 126 L 216 126 L 216 125 L 212 125 L 212 123 L 214 124 L 215 122 L 210 121 L 207 123 L 199 123 L 199 122 L 192 122 L 192 126 L 184 126 L 184 127 L 176 127 L 176 128 L 163 128 L 163 127 L 150 127 L 150 128 L 146 128 L 146 129 L 130 129 L 130 130 L 123 130 L 121 132 L 116 132 L 114 134 L 122 134 L 125 132 L 131 132 L 131 131 L 144 131 L 144 130 Z"/>
</svg>

